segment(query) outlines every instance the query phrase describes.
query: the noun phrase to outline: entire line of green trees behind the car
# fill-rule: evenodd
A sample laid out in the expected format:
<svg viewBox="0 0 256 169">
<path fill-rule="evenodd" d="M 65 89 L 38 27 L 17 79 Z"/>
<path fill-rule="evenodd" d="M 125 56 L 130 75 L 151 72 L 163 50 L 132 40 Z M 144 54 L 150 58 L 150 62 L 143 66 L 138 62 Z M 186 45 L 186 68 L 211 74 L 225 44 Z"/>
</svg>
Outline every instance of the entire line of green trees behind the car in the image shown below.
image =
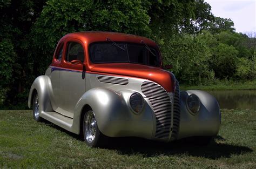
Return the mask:
<svg viewBox="0 0 256 169">
<path fill-rule="evenodd" d="M 256 77 L 255 38 L 193 0 L 38 0 L 0 2 L 0 104 L 26 108 L 33 80 L 50 65 L 62 36 L 114 31 L 155 40 L 181 84 Z M 0 107 L 1 107 L 0 106 Z"/>
</svg>

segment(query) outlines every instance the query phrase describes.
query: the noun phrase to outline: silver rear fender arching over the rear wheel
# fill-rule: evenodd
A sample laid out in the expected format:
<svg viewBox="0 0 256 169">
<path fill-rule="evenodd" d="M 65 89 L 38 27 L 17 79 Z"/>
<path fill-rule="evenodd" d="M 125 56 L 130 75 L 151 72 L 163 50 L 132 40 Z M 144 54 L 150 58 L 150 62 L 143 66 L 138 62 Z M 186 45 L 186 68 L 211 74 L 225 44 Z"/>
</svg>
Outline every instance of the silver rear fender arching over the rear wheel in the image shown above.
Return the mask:
<svg viewBox="0 0 256 169">
<path fill-rule="evenodd" d="M 33 94 L 35 92 L 38 93 L 39 98 L 39 116 L 41 115 L 42 111 L 53 111 L 51 102 L 50 102 L 50 95 L 49 95 L 49 86 L 51 86 L 51 80 L 48 76 L 39 76 L 37 77 L 34 82 L 32 83 L 32 86 L 30 88 L 29 92 L 29 98 L 28 98 L 28 107 L 32 107 L 33 102 Z"/>
</svg>

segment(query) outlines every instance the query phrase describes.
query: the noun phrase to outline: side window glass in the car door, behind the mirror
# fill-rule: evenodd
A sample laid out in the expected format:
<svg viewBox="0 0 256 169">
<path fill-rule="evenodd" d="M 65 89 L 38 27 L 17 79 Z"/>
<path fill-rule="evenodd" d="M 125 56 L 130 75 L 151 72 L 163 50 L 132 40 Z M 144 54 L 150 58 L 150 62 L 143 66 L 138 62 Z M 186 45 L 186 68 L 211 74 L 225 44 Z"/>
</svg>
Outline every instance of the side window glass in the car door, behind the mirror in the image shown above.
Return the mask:
<svg viewBox="0 0 256 169">
<path fill-rule="evenodd" d="M 80 60 L 84 62 L 84 49 L 80 43 L 69 42 L 66 52 L 66 61 L 71 62 L 72 60 Z"/>
</svg>

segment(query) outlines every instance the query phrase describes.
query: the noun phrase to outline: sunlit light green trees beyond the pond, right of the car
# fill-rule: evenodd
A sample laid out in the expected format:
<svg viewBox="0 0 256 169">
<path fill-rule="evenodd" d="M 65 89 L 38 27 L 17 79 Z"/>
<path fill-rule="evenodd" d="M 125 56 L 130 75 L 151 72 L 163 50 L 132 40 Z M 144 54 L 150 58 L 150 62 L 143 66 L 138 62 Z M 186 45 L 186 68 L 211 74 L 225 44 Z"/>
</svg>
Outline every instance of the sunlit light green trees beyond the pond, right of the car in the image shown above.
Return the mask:
<svg viewBox="0 0 256 169">
<path fill-rule="evenodd" d="M 198 35 L 190 35 L 191 39 L 192 37 L 194 39 L 192 42 L 188 40 L 188 35 L 178 37 L 172 38 L 170 43 L 161 46 L 161 50 L 165 64 L 173 65 L 172 71 L 180 82 L 206 85 L 214 79 L 251 80 L 256 78 L 256 52 L 255 48 L 248 48 L 247 45 L 251 39 L 246 35 L 230 31 L 216 34 L 202 31 Z M 194 66 L 193 58 L 196 58 L 200 64 Z M 183 67 L 185 72 L 181 73 L 184 70 Z"/>
</svg>

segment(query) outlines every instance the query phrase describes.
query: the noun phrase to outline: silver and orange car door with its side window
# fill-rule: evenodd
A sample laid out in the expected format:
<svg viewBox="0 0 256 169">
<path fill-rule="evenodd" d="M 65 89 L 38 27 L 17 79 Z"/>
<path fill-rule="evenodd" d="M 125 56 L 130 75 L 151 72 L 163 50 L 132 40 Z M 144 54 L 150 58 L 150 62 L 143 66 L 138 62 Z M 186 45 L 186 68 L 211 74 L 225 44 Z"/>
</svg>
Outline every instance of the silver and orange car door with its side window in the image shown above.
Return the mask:
<svg viewBox="0 0 256 169">
<path fill-rule="evenodd" d="M 72 64 L 72 60 L 85 63 L 84 45 L 80 40 L 65 40 L 65 54 L 62 62 L 64 71 L 59 72 L 59 109 L 57 112 L 73 118 L 73 112 L 79 98 L 85 92 L 85 70 L 83 65 Z"/>
</svg>

